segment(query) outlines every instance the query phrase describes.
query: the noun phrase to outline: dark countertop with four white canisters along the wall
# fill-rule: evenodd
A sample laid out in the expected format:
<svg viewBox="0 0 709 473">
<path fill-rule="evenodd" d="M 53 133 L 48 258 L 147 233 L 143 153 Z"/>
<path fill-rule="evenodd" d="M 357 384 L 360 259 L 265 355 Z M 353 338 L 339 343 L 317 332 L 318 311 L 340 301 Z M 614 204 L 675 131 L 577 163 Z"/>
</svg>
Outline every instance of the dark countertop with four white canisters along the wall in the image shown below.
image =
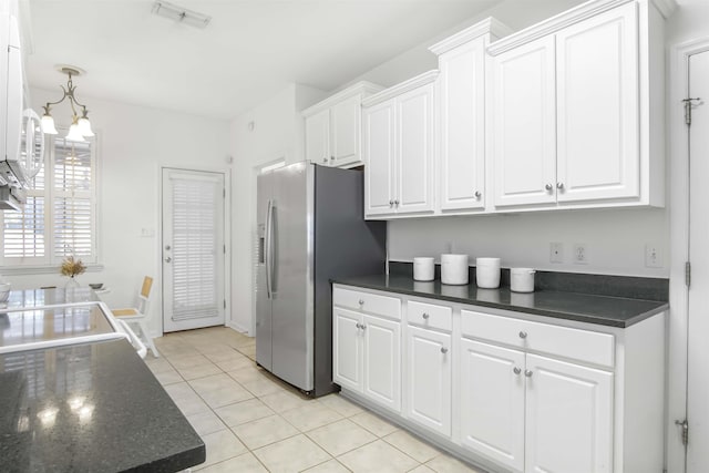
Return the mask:
<svg viewBox="0 0 709 473">
<path fill-rule="evenodd" d="M 420 282 L 401 275 L 342 278 L 332 282 L 620 328 L 630 327 L 669 308 L 667 302 L 655 300 L 555 290 L 521 294 L 512 292 L 510 287 L 482 289 L 474 284 L 448 286 L 440 280 Z"/>
</svg>

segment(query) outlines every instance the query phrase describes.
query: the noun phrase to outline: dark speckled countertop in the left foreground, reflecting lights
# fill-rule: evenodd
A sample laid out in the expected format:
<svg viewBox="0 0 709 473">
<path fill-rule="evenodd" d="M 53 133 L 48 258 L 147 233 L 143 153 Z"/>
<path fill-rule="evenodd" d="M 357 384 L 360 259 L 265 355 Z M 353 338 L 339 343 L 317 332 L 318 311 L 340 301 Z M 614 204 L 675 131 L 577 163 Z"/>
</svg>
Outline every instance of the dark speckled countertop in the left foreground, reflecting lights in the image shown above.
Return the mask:
<svg viewBox="0 0 709 473">
<path fill-rule="evenodd" d="M 176 472 L 205 445 L 125 340 L 0 356 L 0 471 Z"/>
</svg>

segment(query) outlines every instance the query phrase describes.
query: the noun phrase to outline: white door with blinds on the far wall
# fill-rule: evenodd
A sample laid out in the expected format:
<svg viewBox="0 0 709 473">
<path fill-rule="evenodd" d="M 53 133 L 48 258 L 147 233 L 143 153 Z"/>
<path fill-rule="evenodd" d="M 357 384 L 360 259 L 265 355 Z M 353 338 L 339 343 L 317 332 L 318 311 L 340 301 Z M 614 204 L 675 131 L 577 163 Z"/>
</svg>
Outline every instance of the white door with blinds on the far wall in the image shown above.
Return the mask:
<svg viewBox="0 0 709 473">
<path fill-rule="evenodd" d="M 163 329 L 224 325 L 224 174 L 163 168 Z"/>
</svg>

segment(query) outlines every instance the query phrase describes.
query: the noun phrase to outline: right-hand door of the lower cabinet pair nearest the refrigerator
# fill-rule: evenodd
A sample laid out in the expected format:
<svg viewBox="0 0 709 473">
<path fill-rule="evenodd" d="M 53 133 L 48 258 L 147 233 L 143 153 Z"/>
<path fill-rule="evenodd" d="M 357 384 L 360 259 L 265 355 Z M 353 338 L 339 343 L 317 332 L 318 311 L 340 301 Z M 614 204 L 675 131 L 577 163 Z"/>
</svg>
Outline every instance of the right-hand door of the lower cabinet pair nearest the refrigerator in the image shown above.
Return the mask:
<svg viewBox="0 0 709 473">
<path fill-rule="evenodd" d="M 363 316 L 364 395 L 401 412 L 401 323 Z"/>
</svg>

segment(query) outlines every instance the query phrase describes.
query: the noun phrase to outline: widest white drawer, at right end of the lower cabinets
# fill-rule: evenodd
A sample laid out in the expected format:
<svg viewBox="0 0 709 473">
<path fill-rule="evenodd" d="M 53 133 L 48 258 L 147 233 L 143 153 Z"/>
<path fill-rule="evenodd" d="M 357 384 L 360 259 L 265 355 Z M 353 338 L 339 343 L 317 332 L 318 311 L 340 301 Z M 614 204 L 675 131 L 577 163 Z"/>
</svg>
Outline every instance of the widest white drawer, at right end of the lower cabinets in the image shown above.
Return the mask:
<svg viewBox="0 0 709 473">
<path fill-rule="evenodd" d="M 463 310 L 465 337 L 557 354 L 608 368 L 614 366 L 614 336 L 511 317 Z"/>
</svg>

